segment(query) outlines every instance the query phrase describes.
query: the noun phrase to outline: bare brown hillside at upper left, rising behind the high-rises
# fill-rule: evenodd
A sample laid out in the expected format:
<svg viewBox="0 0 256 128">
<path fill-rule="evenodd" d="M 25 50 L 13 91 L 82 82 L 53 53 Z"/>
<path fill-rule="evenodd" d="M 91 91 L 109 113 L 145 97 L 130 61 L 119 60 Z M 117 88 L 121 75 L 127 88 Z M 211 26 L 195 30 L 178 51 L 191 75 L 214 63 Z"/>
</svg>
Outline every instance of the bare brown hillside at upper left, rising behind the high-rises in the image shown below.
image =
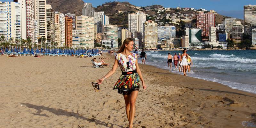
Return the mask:
<svg viewBox="0 0 256 128">
<path fill-rule="evenodd" d="M 52 9 L 55 11 L 76 15 L 82 15 L 84 7 L 83 0 L 47 0 L 47 4 L 52 5 Z"/>
</svg>

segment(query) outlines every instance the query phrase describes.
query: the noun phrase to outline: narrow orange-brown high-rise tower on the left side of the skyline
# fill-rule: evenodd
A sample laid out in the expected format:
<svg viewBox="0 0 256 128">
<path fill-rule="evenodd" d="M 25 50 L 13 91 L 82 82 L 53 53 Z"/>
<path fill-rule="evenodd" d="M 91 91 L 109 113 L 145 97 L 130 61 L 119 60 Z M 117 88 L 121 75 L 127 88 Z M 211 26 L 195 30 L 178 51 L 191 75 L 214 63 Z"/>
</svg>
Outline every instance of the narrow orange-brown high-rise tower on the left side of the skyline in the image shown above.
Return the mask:
<svg viewBox="0 0 256 128">
<path fill-rule="evenodd" d="M 65 46 L 72 47 L 72 30 L 73 20 L 72 17 L 65 16 Z"/>
</svg>

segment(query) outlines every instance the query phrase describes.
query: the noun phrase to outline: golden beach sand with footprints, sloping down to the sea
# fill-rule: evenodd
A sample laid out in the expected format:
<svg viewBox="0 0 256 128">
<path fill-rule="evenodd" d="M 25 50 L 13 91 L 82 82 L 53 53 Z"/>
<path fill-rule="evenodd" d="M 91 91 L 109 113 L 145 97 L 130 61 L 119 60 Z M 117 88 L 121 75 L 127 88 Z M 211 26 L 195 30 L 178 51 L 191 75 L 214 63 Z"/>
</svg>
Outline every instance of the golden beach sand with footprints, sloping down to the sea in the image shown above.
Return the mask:
<svg viewBox="0 0 256 128">
<path fill-rule="evenodd" d="M 113 90 L 121 74 L 119 67 L 100 85 L 101 91 L 94 92 L 90 82 L 111 67 L 92 68 L 91 59 L 1 56 L 0 127 L 127 127 L 123 96 Z M 114 63 L 114 59 L 104 61 Z M 153 66 L 140 64 L 140 68 L 147 90 L 141 86 L 135 128 L 243 128 L 246 122 L 256 124 L 256 94 Z"/>
</svg>

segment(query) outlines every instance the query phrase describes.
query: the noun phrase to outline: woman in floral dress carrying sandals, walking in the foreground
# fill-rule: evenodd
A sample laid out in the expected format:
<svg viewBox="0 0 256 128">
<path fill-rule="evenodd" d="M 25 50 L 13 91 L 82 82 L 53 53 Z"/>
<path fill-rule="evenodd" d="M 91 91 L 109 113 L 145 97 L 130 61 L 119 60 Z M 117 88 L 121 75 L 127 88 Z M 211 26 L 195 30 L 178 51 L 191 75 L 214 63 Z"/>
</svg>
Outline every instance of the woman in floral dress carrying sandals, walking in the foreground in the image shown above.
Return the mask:
<svg viewBox="0 0 256 128">
<path fill-rule="evenodd" d="M 115 73 L 118 65 L 121 68 L 122 75 L 114 85 L 113 90 L 117 89 L 117 92 L 124 96 L 125 111 L 129 122 L 129 128 L 133 127 L 135 102 L 140 89 L 140 80 L 143 89 L 146 89 L 146 84 L 138 65 L 138 55 L 136 53 L 131 53 L 133 44 L 134 42 L 131 38 L 124 40 L 122 46 L 117 51 L 112 69 L 107 75 L 98 80 L 98 84 L 102 84 L 105 79 Z"/>
</svg>

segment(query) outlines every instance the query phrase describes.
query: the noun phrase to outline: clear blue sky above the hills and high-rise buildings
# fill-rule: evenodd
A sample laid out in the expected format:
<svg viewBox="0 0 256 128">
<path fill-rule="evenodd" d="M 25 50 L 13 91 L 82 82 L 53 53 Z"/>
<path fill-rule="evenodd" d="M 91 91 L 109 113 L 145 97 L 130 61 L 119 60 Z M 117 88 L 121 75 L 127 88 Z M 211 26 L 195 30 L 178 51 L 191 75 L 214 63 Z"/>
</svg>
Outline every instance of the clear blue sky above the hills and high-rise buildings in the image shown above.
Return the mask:
<svg viewBox="0 0 256 128">
<path fill-rule="evenodd" d="M 12 0 L 0 0 L 12 1 Z M 113 0 L 112 0 L 113 1 Z M 196 9 L 204 8 L 215 10 L 218 13 L 234 18 L 244 19 L 244 5 L 256 4 L 256 0 L 118 0 L 127 1 L 135 6 L 163 5 L 164 7 L 193 7 Z M 84 0 L 85 3 L 92 3 L 94 7 L 101 5 L 110 0 Z"/>
</svg>

